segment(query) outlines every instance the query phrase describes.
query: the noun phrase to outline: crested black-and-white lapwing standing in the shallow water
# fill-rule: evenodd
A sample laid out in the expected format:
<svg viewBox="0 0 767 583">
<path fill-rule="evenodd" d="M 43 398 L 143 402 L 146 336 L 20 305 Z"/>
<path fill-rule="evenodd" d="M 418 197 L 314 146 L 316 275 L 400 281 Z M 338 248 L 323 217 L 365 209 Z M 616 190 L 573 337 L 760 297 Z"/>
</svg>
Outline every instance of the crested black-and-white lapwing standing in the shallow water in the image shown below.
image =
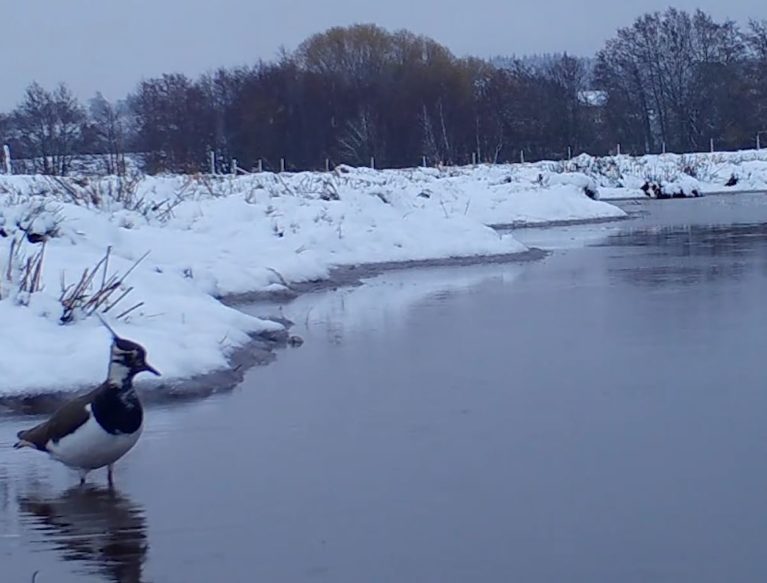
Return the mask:
<svg viewBox="0 0 767 583">
<path fill-rule="evenodd" d="M 114 463 L 136 445 L 144 426 L 144 411 L 133 377 L 141 372 L 160 376 L 147 363 L 143 346 L 109 330 L 112 345 L 107 379 L 64 403 L 47 421 L 19 431 L 14 445 L 16 449 L 31 447 L 46 452 L 77 470 L 80 485 L 85 484 L 90 471 L 104 466 L 109 485 L 114 484 Z"/>
</svg>

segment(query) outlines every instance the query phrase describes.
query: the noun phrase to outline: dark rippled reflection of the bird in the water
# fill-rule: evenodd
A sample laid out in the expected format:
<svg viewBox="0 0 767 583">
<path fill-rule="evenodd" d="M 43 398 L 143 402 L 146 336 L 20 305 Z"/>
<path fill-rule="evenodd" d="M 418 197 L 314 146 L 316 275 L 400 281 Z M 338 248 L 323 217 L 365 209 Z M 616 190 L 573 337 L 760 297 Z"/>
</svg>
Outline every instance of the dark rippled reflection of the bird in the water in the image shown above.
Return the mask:
<svg viewBox="0 0 767 583">
<path fill-rule="evenodd" d="M 115 583 L 140 583 L 149 544 L 143 509 L 114 489 L 78 486 L 57 498 L 19 499 L 22 520 L 64 560 Z"/>
</svg>

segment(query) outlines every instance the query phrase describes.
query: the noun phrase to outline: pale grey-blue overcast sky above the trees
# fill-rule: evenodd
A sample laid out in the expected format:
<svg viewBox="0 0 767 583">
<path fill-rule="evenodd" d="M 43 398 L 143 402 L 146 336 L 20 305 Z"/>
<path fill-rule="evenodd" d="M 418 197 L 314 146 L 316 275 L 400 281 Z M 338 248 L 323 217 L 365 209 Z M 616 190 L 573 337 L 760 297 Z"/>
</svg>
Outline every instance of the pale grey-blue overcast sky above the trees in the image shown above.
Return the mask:
<svg viewBox="0 0 767 583">
<path fill-rule="evenodd" d="M 458 56 L 590 55 L 669 0 L 18 0 L 0 2 L 0 111 L 33 80 L 81 98 L 124 97 L 142 77 L 270 60 L 331 26 L 406 28 Z M 677 0 L 717 20 L 767 18 L 764 0 Z"/>
</svg>

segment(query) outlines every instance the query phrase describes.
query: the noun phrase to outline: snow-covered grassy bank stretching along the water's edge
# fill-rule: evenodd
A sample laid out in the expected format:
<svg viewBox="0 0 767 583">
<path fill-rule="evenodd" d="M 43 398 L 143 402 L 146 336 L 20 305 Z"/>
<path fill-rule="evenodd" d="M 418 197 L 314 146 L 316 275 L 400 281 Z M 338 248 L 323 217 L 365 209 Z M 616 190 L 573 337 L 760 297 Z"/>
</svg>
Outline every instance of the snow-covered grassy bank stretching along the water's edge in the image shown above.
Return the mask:
<svg viewBox="0 0 767 583">
<path fill-rule="evenodd" d="M 641 196 L 651 173 L 703 191 L 733 175 L 737 188 L 765 188 L 761 154 L 705 158 L 697 177 L 673 156 L 236 178 L 0 176 L 0 395 L 100 382 L 109 336 L 95 312 L 146 346 L 162 381 L 188 378 L 226 367 L 251 335 L 281 330 L 216 298 L 284 291 L 334 266 L 523 252 L 488 225 L 622 218 L 585 189 Z"/>
</svg>

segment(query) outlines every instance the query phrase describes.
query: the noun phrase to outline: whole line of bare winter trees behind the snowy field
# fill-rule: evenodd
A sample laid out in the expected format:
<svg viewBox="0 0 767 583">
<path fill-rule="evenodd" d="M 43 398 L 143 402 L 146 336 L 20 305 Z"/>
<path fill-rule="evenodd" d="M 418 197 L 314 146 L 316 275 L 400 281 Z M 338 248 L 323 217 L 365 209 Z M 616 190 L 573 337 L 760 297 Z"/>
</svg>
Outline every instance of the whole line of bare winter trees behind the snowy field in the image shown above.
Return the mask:
<svg viewBox="0 0 767 583">
<path fill-rule="evenodd" d="M 702 11 L 646 14 L 593 58 L 458 58 L 409 31 L 335 27 L 250 67 L 141 81 L 86 105 L 30 85 L 0 114 L 0 139 L 34 170 L 66 174 L 101 154 L 120 173 L 408 167 L 581 152 L 688 152 L 755 145 L 767 130 L 767 20 L 739 27 Z M 767 132 L 764 133 L 767 143 Z"/>
</svg>

